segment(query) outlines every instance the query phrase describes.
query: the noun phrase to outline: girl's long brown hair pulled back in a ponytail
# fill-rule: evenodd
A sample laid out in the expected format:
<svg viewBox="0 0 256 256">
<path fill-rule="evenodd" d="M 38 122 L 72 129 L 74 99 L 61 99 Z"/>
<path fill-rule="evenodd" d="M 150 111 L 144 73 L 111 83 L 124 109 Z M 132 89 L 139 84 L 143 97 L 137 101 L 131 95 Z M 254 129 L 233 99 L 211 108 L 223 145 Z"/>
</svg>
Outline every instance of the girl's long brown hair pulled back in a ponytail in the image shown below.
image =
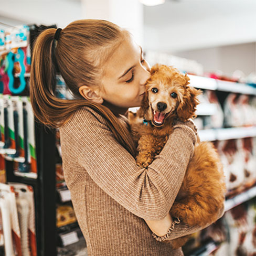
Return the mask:
<svg viewBox="0 0 256 256">
<path fill-rule="evenodd" d="M 54 47 L 55 32 L 55 28 L 42 31 L 33 48 L 30 100 L 36 118 L 45 125 L 60 127 L 75 111 L 88 106 L 106 119 L 116 140 L 135 156 L 136 148 L 129 130 L 106 106 L 86 100 L 79 93 L 83 84 L 100 86 L 101 67 L 124 38 L 123 30 L 106 20 L 77 20 L 61 30 Z M 75 99 L 55 96 L 56 70 Z"/>
</svg>

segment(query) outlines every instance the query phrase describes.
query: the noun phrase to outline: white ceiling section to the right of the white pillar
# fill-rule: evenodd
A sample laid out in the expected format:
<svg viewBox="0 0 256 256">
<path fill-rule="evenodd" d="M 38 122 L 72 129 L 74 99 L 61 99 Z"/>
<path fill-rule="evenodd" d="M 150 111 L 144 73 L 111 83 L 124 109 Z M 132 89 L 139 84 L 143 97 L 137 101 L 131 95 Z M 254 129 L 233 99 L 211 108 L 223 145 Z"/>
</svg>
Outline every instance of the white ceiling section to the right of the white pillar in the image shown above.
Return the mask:
<svg viewBox="0 0 256 256">
<path fill-rule="evenodd" d="M 256 0 L 166 0 L 144 6 L 146 49 L 170 52 L 256 41 Z"/>
</svg>

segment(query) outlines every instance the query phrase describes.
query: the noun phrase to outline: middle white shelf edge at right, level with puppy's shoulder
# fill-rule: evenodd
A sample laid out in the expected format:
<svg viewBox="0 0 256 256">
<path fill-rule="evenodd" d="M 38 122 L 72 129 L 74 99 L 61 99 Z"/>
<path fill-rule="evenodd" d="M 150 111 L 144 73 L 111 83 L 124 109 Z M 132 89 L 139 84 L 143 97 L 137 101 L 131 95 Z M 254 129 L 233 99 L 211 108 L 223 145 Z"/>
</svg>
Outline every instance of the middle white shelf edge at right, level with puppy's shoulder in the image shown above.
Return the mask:
<svg viewBox="0 0 256 256">
<path fill-rule="evenodd" d="M 233 127 L 222 129 L 200 130 L 201 141 L 224 141 L 236 138 L 246 138 L 256 136 L 256 127 Z"/>
</svg>

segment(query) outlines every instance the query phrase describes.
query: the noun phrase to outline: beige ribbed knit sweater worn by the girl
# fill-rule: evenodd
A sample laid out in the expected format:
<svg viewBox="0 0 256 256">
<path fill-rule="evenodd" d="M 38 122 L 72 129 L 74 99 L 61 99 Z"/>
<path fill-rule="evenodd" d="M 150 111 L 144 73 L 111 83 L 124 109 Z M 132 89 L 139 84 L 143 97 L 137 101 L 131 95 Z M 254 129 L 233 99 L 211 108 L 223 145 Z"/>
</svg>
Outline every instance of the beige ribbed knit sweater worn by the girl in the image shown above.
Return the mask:
<svg viewBox="0 0 256 256">
<path fill-rule="evenodd" d="M 65 180 L 89 255 L 183 255 L 159 240 L 193 233 L 182 223 L 165 237 L 153 236 L 144 219 L 167 215 L 194 152 L 192 122 L 175 130 L 148 168 L 118 143 L 95 111 L 84 107 L 60 128 Z"/>
</svg>

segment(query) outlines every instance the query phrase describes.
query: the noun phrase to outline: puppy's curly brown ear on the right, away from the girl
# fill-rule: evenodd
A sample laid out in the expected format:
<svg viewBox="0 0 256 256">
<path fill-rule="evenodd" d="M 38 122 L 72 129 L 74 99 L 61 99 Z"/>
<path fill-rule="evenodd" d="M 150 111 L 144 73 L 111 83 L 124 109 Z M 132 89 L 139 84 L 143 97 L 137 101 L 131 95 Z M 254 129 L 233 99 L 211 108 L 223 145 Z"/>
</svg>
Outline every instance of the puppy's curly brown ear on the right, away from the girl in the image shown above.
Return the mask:
<svg viewBox="0 0 256 256">
<path fill-rule="evenodd" d="M 197 96 L 201 94 L 200 90 L 195 89 L 189 85 L 185 86 L 185 93 L 182 102 L 177 107 L 177 116 L 181 121 L 187 121 L 195 117 L 196 106 L 199 104 Z"/>
</svg>

